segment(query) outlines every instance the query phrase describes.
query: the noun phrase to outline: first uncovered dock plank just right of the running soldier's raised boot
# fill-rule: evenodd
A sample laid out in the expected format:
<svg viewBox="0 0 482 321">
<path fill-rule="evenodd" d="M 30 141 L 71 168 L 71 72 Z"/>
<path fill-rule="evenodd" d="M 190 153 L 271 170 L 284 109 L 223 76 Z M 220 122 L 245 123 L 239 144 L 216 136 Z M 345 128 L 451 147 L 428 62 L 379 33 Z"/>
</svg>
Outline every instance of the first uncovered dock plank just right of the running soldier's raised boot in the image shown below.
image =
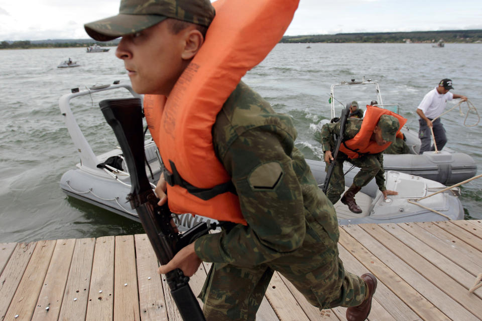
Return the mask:
<svg viewBox="0 0 482 321">
<path fill-rule="evenodd" d="M 381 250 L 386 251 L 381 244 L 375 241 L 368 233 L 364 232 L 363 229 L 356 225 L 352 225 L 351 227 L 340 226 L 339 243 L 358 261 L 362 262 L 371 273 L 377 276 L 380 282 L 383 282 L 423 320 L 450 320 L 434 304 L 417 292 L 405 280 L 404 276 L 399 276 L 392 271 L 389 266 L 385 264 L 383 258 L 372 254 L 369 249 L 364 246 L 366 244 L 372 251 L 374 250 L 374 246 L 379 246 Z"/>
</svg>

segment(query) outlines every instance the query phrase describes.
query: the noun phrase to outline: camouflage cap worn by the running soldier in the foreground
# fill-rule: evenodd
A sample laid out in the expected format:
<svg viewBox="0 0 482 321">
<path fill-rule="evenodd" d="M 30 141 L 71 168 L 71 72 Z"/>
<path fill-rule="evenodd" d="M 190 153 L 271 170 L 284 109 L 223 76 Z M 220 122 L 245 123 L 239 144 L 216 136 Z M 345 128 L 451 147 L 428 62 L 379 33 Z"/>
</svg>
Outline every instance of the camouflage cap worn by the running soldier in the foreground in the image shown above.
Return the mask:
<svg viewBox="0 0 482 321">
<path fill-rule="evenodd" d="M 109 41 L 174 18 L 209 27 L 215 11 L 209 0 L 121 0 L 117 16 L 84 25 L 97 41 Z"/>
</svg>

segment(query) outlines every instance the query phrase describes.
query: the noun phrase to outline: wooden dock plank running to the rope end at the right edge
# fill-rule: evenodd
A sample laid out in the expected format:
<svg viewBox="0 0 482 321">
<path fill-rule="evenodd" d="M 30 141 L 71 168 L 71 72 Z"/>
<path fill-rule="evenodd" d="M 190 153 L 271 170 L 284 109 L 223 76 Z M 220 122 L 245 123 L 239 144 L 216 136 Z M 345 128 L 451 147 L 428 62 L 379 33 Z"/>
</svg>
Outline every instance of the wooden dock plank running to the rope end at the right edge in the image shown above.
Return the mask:
<svg viewBox="0 0 482 321">
<path fill-rule="evenodd" d="M 416 253 L 423 253 L 423 257 L 430 263 L 435 265 L 445 274 L 451 276 L 454 280 L 460 283 L 466 290 L 470 289 L 473 285 L 474 275 L 464 270 L 462 267 L 452 262 L 433 248 L 417 239 L 412 234 L 405 231 L 397 224 L 380 224 L 381 228 L 385 229 L 388 233 L 395 236 L 399 241 L 403 242 L 406 246 L 411 248 Z M 477 289 L 474 292 L 479 297 L 482 297 L 482 288 Z"/>
</svg>

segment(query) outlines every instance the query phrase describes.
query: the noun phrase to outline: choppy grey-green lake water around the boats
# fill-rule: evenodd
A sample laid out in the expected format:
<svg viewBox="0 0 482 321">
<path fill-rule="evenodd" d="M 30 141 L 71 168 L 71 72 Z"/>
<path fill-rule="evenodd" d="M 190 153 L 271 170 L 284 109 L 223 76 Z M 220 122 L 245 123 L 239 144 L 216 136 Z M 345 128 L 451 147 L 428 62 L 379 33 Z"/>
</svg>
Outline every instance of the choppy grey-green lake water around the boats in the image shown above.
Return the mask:
<svg viewBox="0 0 482 321">
<path fill-rule="evenodd" d="M 270 101 L 278 112 L 293 117 L 297 147 L 319 159 L 313 138 L 316 124 L 330 117 L 330 86 L 350 79 L 373 79 L 384 103 L 399 103 L 408 126 L 418 130 L 415 110 L 442 78 L 453 80 L 452 92 L 466 95 L 482 114 L 482 45 L 446 44 L 279 44 L 250 71 L 244 81 Z M 59 188 L 64 172 L 78 163 L 75 148 L 60 115 L 58 99 L 71 88 L 129 83 L 122 61 L 84 48 L 0 50 L 0 242 L 99 237 L 142 233 L 140 224 L 67 198 Z M 57 68 L 71 58 L 80 67 Z M 369 98 L 368 98 L 369 97 Z M 94 151 L 113 149 L 116 142 L 98 108 L 105 96 L 75 100 L 74 114 Z M 344 104 L 360 106 L 373 97 L 348 89 Z M 455 102 L 449 102 L 453 106 Z M 466 105 L 463 105 L 466 111 Z M 482 172 L 481 125 L 463 126 L 457 110 L 443 117 L 447 147 L 470 154 Z M 471 121 L 471 122 L 470 122 Z M 471 117 L 468 123 L 474 123 Z M 466 218 L 482 218 L 482 179 L 462 187 Z"/>
</svg>

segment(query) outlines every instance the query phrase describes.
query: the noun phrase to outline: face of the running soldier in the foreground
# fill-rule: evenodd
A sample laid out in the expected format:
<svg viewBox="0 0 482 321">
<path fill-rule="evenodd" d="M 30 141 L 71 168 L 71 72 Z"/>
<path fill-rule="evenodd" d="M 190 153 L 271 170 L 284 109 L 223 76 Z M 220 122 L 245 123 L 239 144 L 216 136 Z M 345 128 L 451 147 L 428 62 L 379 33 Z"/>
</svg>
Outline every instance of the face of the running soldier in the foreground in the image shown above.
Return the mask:
<svg viewBox="0 0 482 321">
<path fill-rule="evenodd" d="M 124 60 L 133 89 L 139 94 L 169 96 L 181 75 L 184 33 L 174 35 L 167 20 L 122 37 L 115 55 Z"/>
</svg>

